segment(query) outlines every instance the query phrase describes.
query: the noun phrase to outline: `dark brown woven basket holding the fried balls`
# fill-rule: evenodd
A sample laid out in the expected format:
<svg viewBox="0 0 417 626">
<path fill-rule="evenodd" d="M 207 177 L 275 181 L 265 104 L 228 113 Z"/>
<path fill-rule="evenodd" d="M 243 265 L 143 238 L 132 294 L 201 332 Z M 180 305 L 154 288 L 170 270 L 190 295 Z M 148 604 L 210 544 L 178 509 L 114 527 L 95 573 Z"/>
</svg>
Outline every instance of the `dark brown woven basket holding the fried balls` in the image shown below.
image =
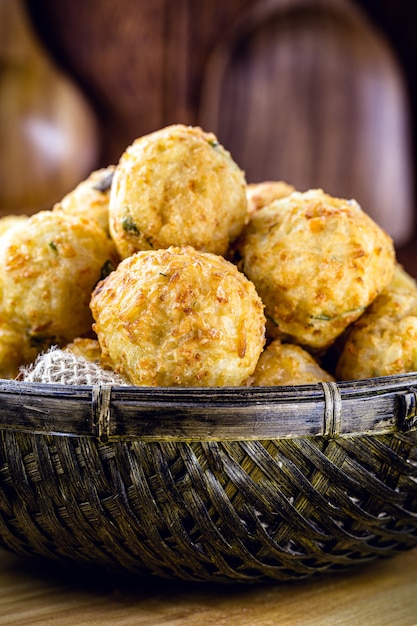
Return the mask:
<svg viewBox="0 0 417 626">
<path fill-rule="evenodd" d="M 417 545 L 417 374 L 281 388 L 0 381 L 0 538 L 195 581 L 288 581 Z"/>
</svg>

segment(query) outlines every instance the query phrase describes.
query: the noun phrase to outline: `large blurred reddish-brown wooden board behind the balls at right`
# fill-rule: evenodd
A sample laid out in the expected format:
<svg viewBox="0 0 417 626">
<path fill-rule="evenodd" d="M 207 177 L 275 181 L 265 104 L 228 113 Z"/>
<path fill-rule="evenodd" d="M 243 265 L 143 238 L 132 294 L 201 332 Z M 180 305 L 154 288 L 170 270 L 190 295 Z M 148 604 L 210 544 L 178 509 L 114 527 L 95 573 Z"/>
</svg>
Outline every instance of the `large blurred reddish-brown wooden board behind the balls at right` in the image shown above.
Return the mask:
<svg viewBox="0 0 417 626">
<path fill-rule="evenodd" d="M 249 182 L 355 198 L 394 239 L 414 225 L 411 119 L 387 41 L 347 0 L 267 0 L 214 49 L 200 124 Z"/>
</svg>

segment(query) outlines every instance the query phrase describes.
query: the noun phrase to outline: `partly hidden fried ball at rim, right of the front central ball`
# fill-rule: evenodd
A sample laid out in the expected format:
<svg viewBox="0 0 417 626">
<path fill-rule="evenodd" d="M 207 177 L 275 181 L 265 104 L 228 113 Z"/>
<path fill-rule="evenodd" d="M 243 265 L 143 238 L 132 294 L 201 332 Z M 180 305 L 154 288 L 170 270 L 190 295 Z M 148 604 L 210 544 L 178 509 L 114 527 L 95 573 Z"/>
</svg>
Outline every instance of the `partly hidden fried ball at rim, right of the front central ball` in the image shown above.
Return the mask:
<svg viewBox="0 0 417 626">
<path fill-rule="evenodd" d="M 304 348 L 275 339 L 259 357 L 250 384 L 258 387 L 309 385 L 333 380 Z"/>
</svg>

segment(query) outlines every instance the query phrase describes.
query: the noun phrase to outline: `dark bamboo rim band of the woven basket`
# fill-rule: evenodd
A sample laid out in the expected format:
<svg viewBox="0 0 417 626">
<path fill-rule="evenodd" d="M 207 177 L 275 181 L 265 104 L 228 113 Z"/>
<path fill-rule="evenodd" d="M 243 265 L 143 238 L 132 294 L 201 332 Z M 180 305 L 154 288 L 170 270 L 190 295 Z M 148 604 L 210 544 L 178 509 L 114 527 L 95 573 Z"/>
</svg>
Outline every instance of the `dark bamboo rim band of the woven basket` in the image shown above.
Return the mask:
<svg viewBox="0 0 417 626">
<path fill-rule="evenodd" d="M 0 379 L 0 431 L 102 441 L 260 440 L 417 429 L 417 372 L 285 387 L 135 387 Z"/>
</svg>

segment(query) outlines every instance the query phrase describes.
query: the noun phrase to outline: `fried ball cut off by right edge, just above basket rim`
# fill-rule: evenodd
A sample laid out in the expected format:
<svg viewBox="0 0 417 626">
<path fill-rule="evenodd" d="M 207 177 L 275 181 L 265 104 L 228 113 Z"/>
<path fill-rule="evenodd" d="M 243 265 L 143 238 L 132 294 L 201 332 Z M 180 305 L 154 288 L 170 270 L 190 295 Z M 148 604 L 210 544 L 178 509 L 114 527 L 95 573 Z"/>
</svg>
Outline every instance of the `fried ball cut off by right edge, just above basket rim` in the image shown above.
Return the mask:
<svg viewBox="0 0 417 626">
<path fill-rule="evenodd" d="M 417 371 L 417 285 L 401 266 L 353 324 L 339 357 L 339 380 Z"/>
</svg>

